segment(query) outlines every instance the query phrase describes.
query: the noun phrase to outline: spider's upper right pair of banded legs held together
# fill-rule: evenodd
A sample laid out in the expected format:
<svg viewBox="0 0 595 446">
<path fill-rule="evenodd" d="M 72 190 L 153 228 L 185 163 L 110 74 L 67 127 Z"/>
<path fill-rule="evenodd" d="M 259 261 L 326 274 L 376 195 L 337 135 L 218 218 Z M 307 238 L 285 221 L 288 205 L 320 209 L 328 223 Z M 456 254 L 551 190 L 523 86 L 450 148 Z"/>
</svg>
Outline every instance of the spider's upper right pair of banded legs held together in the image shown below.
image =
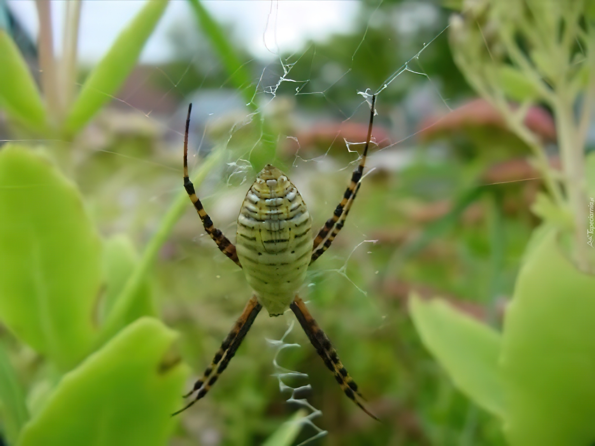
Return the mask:
<svg viewBox="0 0 595 446">
<path fill-rule="evenodd" d="M 347 218 L 349 209 L 351 209 L 353 200 L 355 200 L 355 196 L 358 193 L 359 184 L 362 179 L 362 175 L 364 174 L 366 157 L 368 156 L 368 146 L 372 138 L 372 123 L 374 123 L 375 103 L 376 95 L 372 96 L 370 123 L 368 125 L 368 136 L 366 137 L 366 145 L 364 146 L 364 153 L 362 153 L 362 158 L 359 160 L 358 167 L 355 168 L 353 174 L 351 175 L 351 181 L 349 183 L 349 186 L 347 186 L 345 194 L 343 194 L 343 199 L 341 200 L 339 205 L 337 205 L 337 208 L 333 213 L 333 217 L 327 220 L 327 222 L 324 224 L 324 226 L 322 226 L 320 231 L 318 231 L 318 235 L 314 239 L 314 247 L 312 248 L 312 257 L 310 259 L 310 264 L 312 264 L 312 262 L 318 259 L 318 257 L 320 257 L 322 254 L 324 254 L 328 247 L 331 246 L 331 243 L 333 243 L 334 238 L 337 236 L 337 234 L 339 234 L 339 231 L 343 228 L 343 224 L 345 224 L 345 219 Z M 333 232 L 330 235 L 328 235 L 328 233 L 330 233 L 331 229 L 333 228 Z M 323 241 L 324 243 L 322 243 Z"/>
</svg>

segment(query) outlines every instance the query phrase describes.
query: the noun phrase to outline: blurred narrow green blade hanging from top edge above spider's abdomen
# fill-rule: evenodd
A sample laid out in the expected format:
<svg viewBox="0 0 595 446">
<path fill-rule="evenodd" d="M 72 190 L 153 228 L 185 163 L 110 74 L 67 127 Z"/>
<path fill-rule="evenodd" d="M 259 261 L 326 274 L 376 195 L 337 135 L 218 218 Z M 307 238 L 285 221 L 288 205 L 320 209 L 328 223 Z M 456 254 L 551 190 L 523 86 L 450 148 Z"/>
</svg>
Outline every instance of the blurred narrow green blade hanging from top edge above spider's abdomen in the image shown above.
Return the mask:
<svg viewBox="0 0 595 446">
<path fill-rule="evenodd" d="M 275 161 L 275 151 L 277 149 L 277 134 L 273 131 L 270 124 L 258 111 L 258 107 L 253 102 L 253 96 L 256 92 L 256 85 L 252 82 L 252 77 L 246 68 L 246 64 L 240 61 L 236 51 L 227 39 L 226 31 L 209 15 L 199 0 L 190 0 L 198 18 L 199 24 L 205 36 L 211 42 L 211 46 L 219 56 L 223 66 L 229 74 L 228 82 L 242 92 L 247 105 L 256 112 L 253 117 L 257 120 L 261 138 L 258 144 L 250 151 L 249 161 L 253 169 L 259 172 L 266 164 Z M 278 165 L 278 161 L 275 161 Z"/>
</svg>

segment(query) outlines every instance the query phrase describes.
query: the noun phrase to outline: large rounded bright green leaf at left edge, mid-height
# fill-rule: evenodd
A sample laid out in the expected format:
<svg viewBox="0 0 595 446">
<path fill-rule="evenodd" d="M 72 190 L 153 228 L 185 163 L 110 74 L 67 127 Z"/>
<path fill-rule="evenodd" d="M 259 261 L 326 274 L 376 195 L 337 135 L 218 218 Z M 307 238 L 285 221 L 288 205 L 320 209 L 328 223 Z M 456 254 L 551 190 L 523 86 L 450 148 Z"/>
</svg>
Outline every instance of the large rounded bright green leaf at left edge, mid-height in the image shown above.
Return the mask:
<svg viewBox="0 0 595 446">
<path fill-rule="evenodd" d="M 79 192 L 46 159 L 0 150 L 0 319 L 61 368 L 95 334 L 99 237 Z"/>
</svg>

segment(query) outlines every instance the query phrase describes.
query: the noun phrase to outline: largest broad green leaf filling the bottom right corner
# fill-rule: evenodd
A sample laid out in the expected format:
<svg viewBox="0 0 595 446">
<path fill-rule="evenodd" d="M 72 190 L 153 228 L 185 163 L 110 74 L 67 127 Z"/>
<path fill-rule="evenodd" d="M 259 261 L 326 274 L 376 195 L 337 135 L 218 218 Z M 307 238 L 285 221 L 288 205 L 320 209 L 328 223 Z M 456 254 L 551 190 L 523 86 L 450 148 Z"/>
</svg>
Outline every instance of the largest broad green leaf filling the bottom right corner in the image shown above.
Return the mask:
<svg viewBox="0 0 595 446">
<path fill-rule="evenodd" d="M 595 277 L 569 262 L 556 231 L 522 265 L 500 364 L 513 446 L 595 442 L 594 290 Z"/>
</svg>

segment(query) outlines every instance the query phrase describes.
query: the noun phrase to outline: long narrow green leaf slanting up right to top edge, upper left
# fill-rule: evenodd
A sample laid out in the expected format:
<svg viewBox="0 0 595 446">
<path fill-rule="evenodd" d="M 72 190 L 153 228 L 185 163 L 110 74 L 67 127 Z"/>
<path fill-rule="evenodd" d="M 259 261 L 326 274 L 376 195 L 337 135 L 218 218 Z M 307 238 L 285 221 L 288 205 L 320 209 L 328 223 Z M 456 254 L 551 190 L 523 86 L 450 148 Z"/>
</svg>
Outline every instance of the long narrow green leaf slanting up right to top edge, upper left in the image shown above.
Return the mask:
<svg viewBox="0 0 595 446">
<path fill-rule="evenodd" d="M 89 74 L 64 123 L 64 133 L 73 135 L 118 93 L 136 65 L 146 40 L 163 14 L 167 0 L 152 0 L 120 33 L 104 58 Z"/>
</svg>

